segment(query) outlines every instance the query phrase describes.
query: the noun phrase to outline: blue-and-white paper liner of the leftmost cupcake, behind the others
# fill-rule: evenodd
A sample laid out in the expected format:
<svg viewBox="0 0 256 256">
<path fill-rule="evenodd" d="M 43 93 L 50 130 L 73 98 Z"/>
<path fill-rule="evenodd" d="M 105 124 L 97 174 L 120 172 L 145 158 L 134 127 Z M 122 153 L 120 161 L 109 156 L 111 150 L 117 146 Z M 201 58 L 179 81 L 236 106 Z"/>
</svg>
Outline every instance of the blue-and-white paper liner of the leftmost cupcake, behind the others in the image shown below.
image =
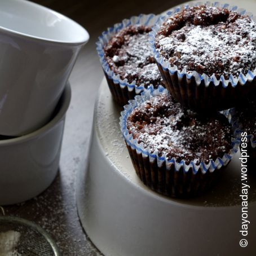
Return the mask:
<svg viewBox="0 0 256 256">
<path fill-rule="evenodd" d="M 143 84 L 137 85 L 135 81 L 129 83 L 127 79 L 122 80 L 118 74 L 115 74 L 104 58 L 104 46 L 108 43 L 109 39 L 115 36 L 123 28 L 129 27 L 130 25 L 153 26 L 158 18 L 159 16 L 154 14 L 141 14 L 139 16 L 133 16 L 130 19 L 125 19 L 122 23 L 115 24 L 114 27 L 108 28 L 107 31 L 101 34 L 99 41 L 96 42 L 96 50 L 98 51 L 100 63 L 107 79 L 109 90 L 111 91 L 114 100 L 122 106 L 127 104 L 128 100 L 134 99 L 135 95 L 139 95 L 145 87 Z"/>
</svg>

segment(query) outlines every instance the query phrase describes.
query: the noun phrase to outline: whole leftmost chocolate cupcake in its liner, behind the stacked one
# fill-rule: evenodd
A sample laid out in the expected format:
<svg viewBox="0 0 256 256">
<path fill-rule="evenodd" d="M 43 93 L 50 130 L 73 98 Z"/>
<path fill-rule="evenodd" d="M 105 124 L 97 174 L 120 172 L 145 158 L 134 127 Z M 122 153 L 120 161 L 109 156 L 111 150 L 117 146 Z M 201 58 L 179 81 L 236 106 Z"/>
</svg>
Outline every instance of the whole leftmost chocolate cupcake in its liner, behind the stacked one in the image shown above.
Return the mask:
<svg viewBox="0 0 256 256">
<path fill-rule="evenodd" d="M 149 43 L 149 32 L 156 20 L 152 14 L 131 17 L 99 37 L 97 50 L 104 74 L 120 105 L 127 104 L 149 85 L 163 85 Z"/>
</svg>

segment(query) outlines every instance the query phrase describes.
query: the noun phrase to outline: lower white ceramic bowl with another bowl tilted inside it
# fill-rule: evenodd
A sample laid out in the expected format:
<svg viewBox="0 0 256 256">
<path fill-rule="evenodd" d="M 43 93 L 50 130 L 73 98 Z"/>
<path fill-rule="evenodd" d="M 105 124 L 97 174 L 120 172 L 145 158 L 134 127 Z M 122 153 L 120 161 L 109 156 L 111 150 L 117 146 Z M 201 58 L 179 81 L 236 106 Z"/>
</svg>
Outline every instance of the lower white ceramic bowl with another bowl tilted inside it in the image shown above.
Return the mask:
<svg viewBox="0 0 256 256">
<path fill-rule="evenodd" d="M 0 205 L 37 196 L 54 180 L 70 99 L 67 83 L 50 122 L 28 135 L 0 140 Z"/>
</svg>

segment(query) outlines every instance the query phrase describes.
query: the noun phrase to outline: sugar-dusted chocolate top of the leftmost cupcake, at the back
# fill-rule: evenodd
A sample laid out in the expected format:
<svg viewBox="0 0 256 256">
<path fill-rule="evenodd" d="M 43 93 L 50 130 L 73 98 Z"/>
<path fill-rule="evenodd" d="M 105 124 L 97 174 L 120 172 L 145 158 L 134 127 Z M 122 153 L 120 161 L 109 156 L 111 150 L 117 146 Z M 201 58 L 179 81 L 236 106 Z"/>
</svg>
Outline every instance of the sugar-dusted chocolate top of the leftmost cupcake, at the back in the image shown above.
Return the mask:
<svg viewBox="0 0 256 256">
<path fill-rule="evenodd" d="M 105 59 L 121 80 L 154 87 L 162 84 L 162 77 L 153 58 L 149 43 L 151 27 L 130 25 L 120 30 L 104 47 Z"/>
</svg>

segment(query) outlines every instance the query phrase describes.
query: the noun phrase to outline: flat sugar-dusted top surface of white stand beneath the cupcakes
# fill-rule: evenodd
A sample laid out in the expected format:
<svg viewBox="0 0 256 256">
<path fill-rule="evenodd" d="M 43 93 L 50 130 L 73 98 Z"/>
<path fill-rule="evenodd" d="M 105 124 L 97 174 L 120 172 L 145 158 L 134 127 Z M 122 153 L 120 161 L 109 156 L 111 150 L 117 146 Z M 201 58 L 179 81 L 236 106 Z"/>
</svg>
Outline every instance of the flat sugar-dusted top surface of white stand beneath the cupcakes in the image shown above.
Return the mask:
<svg viewBox="0 0 256 256">
<path fill-rule="evenodd" d="M 135 173 L 129 152 L 122 137 L 119 125 L 120 112 L 122 107 L 117 105 L 108 89 L 107 81 L 101 82 L 98 100 L 95 104 L 95 127 L 105 156 L 109 158 L 110 164 L 116 171 L 123 175 L 128 182 L 136 187 L 143 188 L 154 197 L 161 197 L 163 200 L 172 200 L 181 204 L 196 206 L 235 206 L 241 204 L 241 161 L 240 152 L 237 152 L 231 163 L 223 171 L 217 186 L 204 195 L 180 200 L 159 195 L 151 191 L 140 181 Z M 250 201 L 256 204 L 256 175 L 249 176 Z"/>
</svg>

